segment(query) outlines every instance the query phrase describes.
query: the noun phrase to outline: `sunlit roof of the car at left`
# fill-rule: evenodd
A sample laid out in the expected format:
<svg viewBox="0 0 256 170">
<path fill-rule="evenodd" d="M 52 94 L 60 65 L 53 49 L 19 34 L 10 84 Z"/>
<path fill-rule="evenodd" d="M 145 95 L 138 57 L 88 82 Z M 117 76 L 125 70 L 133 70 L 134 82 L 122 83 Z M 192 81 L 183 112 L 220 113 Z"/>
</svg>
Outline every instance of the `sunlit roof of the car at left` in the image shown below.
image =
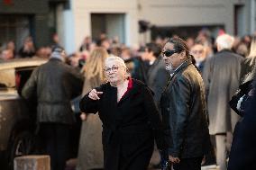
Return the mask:
<svg viewBox="0 0 256 170">
<path fill-rule="evenodd" d="M 5 62 L 0 62 L 0 70 L 14 67 L 37 67 L 46 63 L 45 58 L 14 58 Z"/>
</svg>

